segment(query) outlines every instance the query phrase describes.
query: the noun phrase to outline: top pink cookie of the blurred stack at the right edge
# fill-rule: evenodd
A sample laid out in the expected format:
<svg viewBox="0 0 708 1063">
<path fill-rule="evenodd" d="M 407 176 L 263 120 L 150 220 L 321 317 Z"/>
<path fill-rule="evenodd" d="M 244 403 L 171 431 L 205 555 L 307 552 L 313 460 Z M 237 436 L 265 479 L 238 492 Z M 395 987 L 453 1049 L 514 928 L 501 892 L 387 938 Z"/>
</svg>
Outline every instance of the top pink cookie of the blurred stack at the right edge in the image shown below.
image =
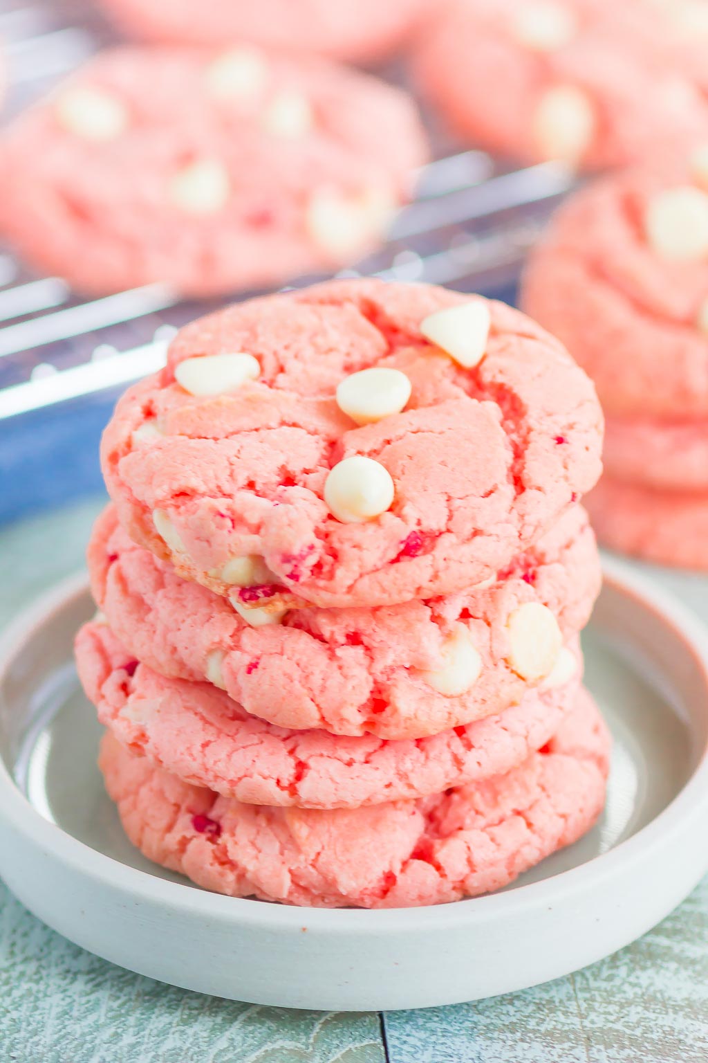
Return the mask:
<svg viewBox="0 0 708 1063">
<path fill-rule="evenodd" d="M 708 417 L 708 157 L 669 158 L 572 197 L 532 252 L 522 303 L 612 416 Z"/>
</svg>

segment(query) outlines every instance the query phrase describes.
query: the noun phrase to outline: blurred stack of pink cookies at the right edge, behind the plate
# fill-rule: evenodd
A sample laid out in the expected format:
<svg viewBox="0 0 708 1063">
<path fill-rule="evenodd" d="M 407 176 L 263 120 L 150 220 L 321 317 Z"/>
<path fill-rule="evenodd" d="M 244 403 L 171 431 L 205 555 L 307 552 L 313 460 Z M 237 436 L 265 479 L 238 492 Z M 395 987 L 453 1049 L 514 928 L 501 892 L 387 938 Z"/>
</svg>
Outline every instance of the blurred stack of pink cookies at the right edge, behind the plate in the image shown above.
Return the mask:
<svg viewBox="0 0 708 1063">
<path fill-rule="evenodd" d="M 708 142 L 605 178 L 558 212 L 525 308 L 594 379 L 607 545 L 708 570 Z"/>
</svg>

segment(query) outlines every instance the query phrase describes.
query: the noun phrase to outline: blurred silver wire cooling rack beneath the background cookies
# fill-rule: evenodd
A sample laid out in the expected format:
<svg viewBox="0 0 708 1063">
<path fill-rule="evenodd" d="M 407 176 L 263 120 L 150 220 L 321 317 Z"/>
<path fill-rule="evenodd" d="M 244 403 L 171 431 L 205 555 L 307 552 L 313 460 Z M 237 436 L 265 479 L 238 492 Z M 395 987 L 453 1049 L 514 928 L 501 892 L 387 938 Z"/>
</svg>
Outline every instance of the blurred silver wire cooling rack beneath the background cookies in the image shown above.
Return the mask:
<svg viewBox="0 0 708 1063">
<path fill-rule="evenodd" d="M 8 118 L 113 38 L 89 0 L 0 0 L 0 39 L 10 66 Z M 418 174 L 416 199 L 386 244 L 338 276 L 499 290 L 514 282 L 571 183 L 553 164 L 504 171 L 483 152 L 444 150 Z M 175 328 L 215 305 L 180 301 L 159 284 L 82 301 L 62 279 L 30 274 L 0 248 L 0 420 L 154 371 Z"/>
</svg>

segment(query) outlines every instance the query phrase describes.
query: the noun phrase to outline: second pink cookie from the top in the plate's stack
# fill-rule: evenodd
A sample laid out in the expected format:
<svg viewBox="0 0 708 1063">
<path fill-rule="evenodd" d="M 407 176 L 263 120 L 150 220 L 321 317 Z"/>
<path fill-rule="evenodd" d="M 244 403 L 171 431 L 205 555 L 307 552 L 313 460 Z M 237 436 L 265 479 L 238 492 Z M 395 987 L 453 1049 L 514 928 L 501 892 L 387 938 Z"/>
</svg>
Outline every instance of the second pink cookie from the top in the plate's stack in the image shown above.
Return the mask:
<svg viewBox="0 0 708 1063">
<path fill-rule="evenodd" d="M 376 609 L 300 602 L 281 625 L 252 627 L 226 598 L 182 579 L 128 539 L 113 507 L 96 523 L 88 563 L 111 630 L 154 671 L 215 682 L 282 727 L 387 739 L 436 735 L 518 702 L 555 649 L 541 638 L 529 648 L 533 674 L 518 674 L 510 618 L 531 606 L 536 634 L 554 629 L 558 648 L 587 623 L 601 580 L 580 506 L 487 590 Z"/>
</svg>

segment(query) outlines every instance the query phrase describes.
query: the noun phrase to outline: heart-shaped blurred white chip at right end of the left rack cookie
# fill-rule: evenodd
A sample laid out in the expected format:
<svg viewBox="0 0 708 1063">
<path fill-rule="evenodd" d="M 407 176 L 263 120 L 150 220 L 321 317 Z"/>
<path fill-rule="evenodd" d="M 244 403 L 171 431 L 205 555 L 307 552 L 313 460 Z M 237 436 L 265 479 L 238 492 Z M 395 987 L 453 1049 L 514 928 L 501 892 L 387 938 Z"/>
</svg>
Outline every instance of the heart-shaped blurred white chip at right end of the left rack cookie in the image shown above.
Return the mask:
<svg viewBox="0 0 708 1063">
<path fill-rule="evenodd" d="M 351 261 L 380 239 L 396 210 L 392 192 L 366 188 L 346 196 L 336 188 L 322 187 L 310 197 L 305 224 L 310 238 L 335 261 Z"/>
</svg>

